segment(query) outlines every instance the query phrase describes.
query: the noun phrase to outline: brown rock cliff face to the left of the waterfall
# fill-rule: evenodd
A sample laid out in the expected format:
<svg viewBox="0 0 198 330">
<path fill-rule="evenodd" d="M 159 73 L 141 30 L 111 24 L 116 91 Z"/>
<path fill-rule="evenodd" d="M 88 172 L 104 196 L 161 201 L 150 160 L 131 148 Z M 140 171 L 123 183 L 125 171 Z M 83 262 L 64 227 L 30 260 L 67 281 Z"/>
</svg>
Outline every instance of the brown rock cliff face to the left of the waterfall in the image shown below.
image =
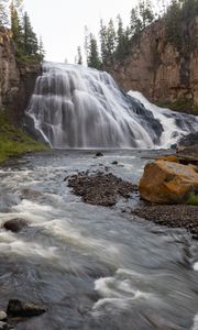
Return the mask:
<svg viewBox="0 0 198 330">
<path fill-rule="evenodd" d="M 10 31 L 0 30 L 0 108 L 7 109 L 18 124 L 40 74 L 40 64 L 16 63 Z"/>
</svg>

